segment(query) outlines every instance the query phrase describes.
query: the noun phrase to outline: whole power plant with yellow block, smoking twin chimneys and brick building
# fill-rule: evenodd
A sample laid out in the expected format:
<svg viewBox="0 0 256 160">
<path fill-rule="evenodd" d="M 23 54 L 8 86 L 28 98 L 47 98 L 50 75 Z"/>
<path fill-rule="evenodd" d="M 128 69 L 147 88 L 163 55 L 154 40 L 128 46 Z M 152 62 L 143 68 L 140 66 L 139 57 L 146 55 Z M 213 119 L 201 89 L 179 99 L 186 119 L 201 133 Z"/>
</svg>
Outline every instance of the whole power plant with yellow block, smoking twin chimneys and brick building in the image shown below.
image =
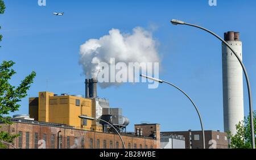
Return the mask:
<svg viewBox="0 0 256 160">
<path fill-rule="evenodd" d="M 112 124 L 126 148 L 160 148 L 159 124 L 139 124 L 135 132 L 126 132 L 129 119 L 122 115 L 122 108 L 111 108 L 109 100 L 97 96 L 96 79 L 86 79 L 85 91 L 85 97 L 39 92 L 38 97 L 29 98 L 29 115 L 13 116 L 13 124 L 0 122 L 0 131 L 19 134 L 13 143 L 16 148 L 122 148 L 112 126 L 79 117 L 88 116 Z"/>
</svg>

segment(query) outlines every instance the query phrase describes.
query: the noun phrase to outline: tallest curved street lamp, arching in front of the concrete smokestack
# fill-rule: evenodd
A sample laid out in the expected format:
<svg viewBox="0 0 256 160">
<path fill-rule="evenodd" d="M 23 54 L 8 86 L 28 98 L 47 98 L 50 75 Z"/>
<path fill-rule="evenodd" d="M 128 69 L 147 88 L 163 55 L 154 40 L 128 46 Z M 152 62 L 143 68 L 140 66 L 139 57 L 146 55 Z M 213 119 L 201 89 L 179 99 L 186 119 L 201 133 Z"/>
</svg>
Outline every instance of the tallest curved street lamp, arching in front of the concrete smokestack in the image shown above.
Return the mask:
<svg viewBox="0 0 256 160">
<path fill-rule="evenodd" d="M 220 36 L 216 35 L 216 33 L 213 33 L 212 31 L 207 30 L 206 28 L 203 28 L 201 26 L 197 26 L 195 24 L 190 24 L 190 23 L 185 23 L 185 22 L 183 22 L 181 20 L 177 20 L 177 19 L 172 19 L 171 23 L 174 24 L 174 25 L 183 24 L 183 25 L 200 28 L 201 30 L 207 31 L 208 33 L 210 33 L 213 36 L 217 37 L 217 39 L 221 40 L 222 43 L 224 43 L 230 50 L 232 50 L 234 55 L 237 57 L 238 61 L 240 62 L 241 66 L 242 66 L 243 73 L 245 73 L 245 78 L 246 78 L 246 83 L 247 83 L 247 90 L 248 90 L 248 95 L 249 95 L 249 107 L 250 107 L 251 146 L 252 146 L 253 149 L 255 149 L 254 124 L 253 124 L 253 103 L 252 103 L 252 96 L 251 96 L 251 86 L 250 86 L 250 81 L 249 81 L 249 77 L 247 75 L 247 71 L 246 71 L 245 65 L 243 65 L 243 62 L 242 62 L 241 58 L 230 47 L 230 45 L 228 43 L 226 43 L 226 41 L 224 39 L 222 39 Z"/>
</svg>

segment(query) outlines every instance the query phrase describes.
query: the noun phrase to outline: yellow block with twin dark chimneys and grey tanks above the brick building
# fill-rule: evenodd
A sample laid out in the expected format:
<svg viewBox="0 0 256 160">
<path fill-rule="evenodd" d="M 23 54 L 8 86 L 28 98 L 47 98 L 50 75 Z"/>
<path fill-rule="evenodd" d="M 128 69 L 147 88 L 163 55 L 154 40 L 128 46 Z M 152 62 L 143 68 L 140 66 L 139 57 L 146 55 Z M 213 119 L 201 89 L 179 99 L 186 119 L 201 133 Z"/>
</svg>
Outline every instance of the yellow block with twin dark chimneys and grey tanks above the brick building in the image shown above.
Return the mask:
<svg viewBox="0 0 256 160">
<path fill-rule="evenodd" d="M 96 117 L 108 121 L 119 132 L 126 132 L 130 121 L 122 115 L 122 108 L 110 108 L 109 100 L 97 96 L 97 79 L 85 79 L 85 97 L 82 95 L 54 94 L 39 92 L 38 97 L 29 99 L 31 118 L 48 123 L 59 123 L 94 130 L 112 131 L 113 128 L 103 121 L 89 121 L 79 116 Z"/>
</svg>

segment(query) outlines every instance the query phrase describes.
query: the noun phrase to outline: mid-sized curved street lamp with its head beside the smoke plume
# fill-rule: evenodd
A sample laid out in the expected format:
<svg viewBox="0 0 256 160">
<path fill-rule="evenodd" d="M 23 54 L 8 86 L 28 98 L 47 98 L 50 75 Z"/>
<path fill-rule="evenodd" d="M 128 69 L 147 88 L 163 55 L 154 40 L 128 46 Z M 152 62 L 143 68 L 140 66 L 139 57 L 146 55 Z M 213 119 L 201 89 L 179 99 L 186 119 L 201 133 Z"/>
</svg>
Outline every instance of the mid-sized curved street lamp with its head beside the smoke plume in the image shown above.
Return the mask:
<svg viewBox="0 0 256 160">
<path fill-rule="evenodd" d="M 149 77 L 147 75 L 143 75 L 141 74 L 141 77 L 144 77 L 144 78 L 147 78 L 147 79 L 151 79 L 153 81 L 156 81 L 156 82 L 159 82 L 159 83 L 167 83 L 168 85 L 171 85 L 173 87 L 175 87 L 177 90 L 181 91 L 185 96 L 187 96 L 187 98 L 191 101 L 191 103 L 193 104 L 193 106 L 195 107 L 196 109 L 196 112 L 199 116 L 199 119 L 200 119 L 200 124 L 201 124 L 201 129 L 202 129 L 202 134 L 203 134 L 203 148 L 205 149 L 205 136 L 204 136 L 204 125 L 203 125 L 203 121 L 201 119 L 201 115 L 200 115 L 200 112 L 198 110 L 198 108 L 196 107 L 196 104 L 193 102 L 193 100 L 183 91 L 181 90 L 179 87 L 175 86 L 174 84 L 170 83 L 170 82 L 167 82 L 167 81 L 163 81 L 161 79 L 156 79 L 156 78 L 153 78 L 153 77 Z"/>
</svg>

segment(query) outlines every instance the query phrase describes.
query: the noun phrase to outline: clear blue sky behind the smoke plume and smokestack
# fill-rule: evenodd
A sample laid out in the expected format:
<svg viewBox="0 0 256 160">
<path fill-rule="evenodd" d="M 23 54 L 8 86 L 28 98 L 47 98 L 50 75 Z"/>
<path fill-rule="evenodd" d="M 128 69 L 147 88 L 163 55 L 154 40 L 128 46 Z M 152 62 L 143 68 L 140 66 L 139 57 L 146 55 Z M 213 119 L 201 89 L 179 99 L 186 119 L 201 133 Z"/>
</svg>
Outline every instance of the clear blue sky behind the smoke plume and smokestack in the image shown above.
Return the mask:
<svg viewBox="0 0 256 160">
<path fill-rule="evenodd" d="M 37 75 L 28 91 L 56 94 L 84 94 L 79 47 L 86 40 L 108 34 L 112 28 L 131 32 L 134 27 L 154 26 L 162 71 L 160 78 L 175 83 L 195 101 L 205 129 L 223 130 L 221 43 L 208 33 L 188 26 L 173 26 L 172 18 L 199 24 L 223 35 L 241 32 L 243 62 L 249 73 L 252 94 L 255 91 L 255 1 L 221 1 L 209 6 L 200 1 L 5 1 L 6 12 L 0 15 L 0 60 L 16 62 L 11 83 L 18 83 L 32 70 Z M 52 12 L 65 12 L 54 16 Z M 250 22 L 250 23 L 248 23 Z M 179 91 L 167 85 L 147 89 L 147 83 L 125 83 L 119 87 L 98 89 L 112 107 L 123 108 L 132 131 L 141 121 L 159 123 L 162 131 L 199 130 L 200 121 L 192 104 Z M 249 113 L 244 81 L 245 113 Z M 20 103 L 28 113 L 28 96 Z M 253 102 L 254 106 L 255 100 Z M 254 107 L 255 108 L 255 107 Z"/>
</svg>

